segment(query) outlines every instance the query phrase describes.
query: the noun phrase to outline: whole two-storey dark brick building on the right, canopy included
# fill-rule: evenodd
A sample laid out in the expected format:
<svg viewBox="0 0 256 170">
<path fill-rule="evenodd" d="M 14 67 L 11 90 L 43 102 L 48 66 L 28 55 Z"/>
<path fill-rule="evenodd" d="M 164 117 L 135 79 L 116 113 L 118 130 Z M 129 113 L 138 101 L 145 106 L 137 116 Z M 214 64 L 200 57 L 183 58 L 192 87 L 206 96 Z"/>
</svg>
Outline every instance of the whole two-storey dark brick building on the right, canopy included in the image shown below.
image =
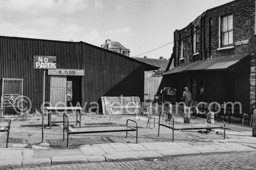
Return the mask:
<svg viewBox="0 0 256 170">
<path fill-rule="evenodd" d="M 189 87 L 193 100 L 239 101 L 255 107 L 256 1 L 235 0 L 203 12 L 174 32 L 170 63 L 161 86 Z M 169 64 L 170 65 L 170 64 Z"/>
</svg>

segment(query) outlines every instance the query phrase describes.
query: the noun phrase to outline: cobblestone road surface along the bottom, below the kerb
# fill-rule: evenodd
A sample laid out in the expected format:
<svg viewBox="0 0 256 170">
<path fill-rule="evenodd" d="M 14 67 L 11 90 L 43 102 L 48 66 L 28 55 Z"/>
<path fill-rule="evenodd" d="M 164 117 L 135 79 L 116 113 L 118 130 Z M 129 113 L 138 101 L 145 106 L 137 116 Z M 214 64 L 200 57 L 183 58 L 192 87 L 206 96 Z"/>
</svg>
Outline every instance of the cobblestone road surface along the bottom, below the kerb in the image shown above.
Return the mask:
<svg viewBox="0 0 256 170">
<path fill-rule="evenodd" d="M 15 170 L 255 170 L 256 152 L 169 157 L 160 160 L 63 164 Z"/>
</svg>

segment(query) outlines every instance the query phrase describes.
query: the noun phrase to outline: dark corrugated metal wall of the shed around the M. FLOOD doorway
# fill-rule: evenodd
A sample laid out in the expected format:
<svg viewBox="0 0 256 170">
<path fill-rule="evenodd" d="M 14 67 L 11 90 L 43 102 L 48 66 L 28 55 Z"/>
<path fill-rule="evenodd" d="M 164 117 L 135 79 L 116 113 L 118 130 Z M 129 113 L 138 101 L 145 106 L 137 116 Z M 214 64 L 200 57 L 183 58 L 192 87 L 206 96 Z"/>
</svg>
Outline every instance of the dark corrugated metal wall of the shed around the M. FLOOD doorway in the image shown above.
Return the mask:
<svg viewBox="0 0 256 170">
<path fill-rule="evenodd" d="M 58 69 L 85 69 L 82 103 L 96 101 L 101 106 L 101 96 L 121 94 L 143 100 L 143 63 L 83 42 L 0 36 L 0 79 L 24 78 L 23 94 L 31 99 L 32 112 L 42 103 L 43 84 L 43 70 L 33 69 L 33 56 L 56 56 Z M 49 101 L 50 76 L 46 85 Z"/>
</svg>

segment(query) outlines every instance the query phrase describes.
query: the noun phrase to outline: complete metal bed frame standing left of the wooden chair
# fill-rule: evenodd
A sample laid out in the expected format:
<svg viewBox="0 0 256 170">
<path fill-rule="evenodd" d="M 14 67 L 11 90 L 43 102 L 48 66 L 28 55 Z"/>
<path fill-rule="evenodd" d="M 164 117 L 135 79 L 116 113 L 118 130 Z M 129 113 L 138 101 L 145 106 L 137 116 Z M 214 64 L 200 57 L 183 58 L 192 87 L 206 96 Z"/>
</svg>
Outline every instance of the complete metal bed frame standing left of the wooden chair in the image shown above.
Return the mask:
<svg viewBox="0 0 256 170">
<path fill-rule="evenodd" d="M 128 126 L 128 121 L 135 122 L 136 128 Z M 104 130 L 97 130 L 97 128 L 104 127 Z M 116 130 L 111 130 L 110 127 L 126 127 L 126 129 L 116 129 Z M 93 128 L 95 130 L 92 131 L 87 131 L 88 128 Z M 110 128 L 110 129 L 108 129 Z M 72 131 L 80 129 L 80 132 L 74 132 Z M 94 125 L 94 126 L 79 126 L 79 127 L 70 127 L 69 126 L 69 121 L 68 121 L 68 116 L 66 113 L 63 114 L 63 141 L 65 139 L 65 131 L 67 132 L 67 148 L 68 148 L 68 135 L 72 134 L 83 134 L 83 133 L 103 133 L 103 132 L 126 132 L 126 138 L 127 135 L 129 134 L 130 136 L 136 137 L 136 144 L 138 143 L 138 126 L 136 121 L 128 119 L 126 121 L 126 125 Z M 130 131 L 136 131 L 136 136 L 131 135 Z"/>
</svg>

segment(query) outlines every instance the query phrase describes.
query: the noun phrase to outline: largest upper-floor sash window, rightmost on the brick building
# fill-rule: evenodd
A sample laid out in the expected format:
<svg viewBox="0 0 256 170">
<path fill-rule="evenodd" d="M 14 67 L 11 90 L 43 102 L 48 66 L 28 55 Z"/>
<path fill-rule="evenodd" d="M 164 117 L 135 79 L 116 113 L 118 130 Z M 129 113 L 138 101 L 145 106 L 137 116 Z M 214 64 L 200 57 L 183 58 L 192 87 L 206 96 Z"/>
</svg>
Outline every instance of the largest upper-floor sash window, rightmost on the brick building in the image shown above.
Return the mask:
<svg viewBox="0 0 256 170">
<path fill-rule="evenodd" d="M 222 47 L 233 45 L 233 14 L 221 18 Z"/>
</svg>

